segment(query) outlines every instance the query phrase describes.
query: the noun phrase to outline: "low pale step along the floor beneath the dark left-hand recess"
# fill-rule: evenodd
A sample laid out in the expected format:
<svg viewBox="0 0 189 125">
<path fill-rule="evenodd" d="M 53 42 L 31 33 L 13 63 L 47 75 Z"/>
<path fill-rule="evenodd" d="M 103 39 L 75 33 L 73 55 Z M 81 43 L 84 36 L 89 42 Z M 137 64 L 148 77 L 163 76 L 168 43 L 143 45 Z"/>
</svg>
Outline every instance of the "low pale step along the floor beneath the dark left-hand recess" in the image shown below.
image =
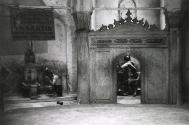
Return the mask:
<svg viewBox="0 0 189 125">
<path fill-rule="evenodd" d="M 57 101 L 63 102 L 63 105 L 76 105 L 76 94 L 64 94 L 63 97 L 49 97 L 47 95 L 40 95 L 38 99 L 23 98 L 20 96 L 12 96 L 5 98 L 5 111 L 40 108 L 40 107 L 56 107 L 59 106 Z"/>
</svg>

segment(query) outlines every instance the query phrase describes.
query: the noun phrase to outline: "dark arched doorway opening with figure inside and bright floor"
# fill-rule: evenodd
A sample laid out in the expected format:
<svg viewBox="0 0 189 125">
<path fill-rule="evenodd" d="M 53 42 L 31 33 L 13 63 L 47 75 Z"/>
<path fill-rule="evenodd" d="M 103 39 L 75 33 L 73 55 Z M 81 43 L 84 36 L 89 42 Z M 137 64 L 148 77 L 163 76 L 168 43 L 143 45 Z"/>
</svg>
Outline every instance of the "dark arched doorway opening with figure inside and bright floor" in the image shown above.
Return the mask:
<svg viewBox="0 0 189 125">
<path fill-rule="evenodd" d="M 126 55 L 117 65 L 117 103 L 141 103 L 141 65 L 136 58 Z"/>
</svg>

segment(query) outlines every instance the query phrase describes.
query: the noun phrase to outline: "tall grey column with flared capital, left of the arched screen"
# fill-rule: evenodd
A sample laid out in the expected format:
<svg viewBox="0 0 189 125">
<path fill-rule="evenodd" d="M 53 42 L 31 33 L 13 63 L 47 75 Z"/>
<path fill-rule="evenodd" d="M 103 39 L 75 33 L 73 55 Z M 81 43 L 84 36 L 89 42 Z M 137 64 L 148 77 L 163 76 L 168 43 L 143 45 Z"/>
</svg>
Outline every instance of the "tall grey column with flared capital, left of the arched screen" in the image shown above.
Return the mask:
<svg viewBox="0 0 189 125">
<path fill-rule="evenodd" d="M 78 102 L 87 104 L 90 97 L 88 33 L 91 12 L 75 12 L 73 17 L 76 24 Z"/>
</svg>

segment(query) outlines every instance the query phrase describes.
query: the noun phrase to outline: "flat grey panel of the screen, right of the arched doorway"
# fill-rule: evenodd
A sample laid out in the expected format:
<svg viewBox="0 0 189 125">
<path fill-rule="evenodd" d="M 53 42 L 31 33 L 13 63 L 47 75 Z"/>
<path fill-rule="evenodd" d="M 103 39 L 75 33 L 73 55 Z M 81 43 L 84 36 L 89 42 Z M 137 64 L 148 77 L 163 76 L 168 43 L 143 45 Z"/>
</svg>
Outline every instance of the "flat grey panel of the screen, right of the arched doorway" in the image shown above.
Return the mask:
<svg viewBox="0 0 189 125">
<path fill-rule="evenodd" d="M 147 103 L 167 103 L 168 59 L 163 49 L 148 49 L 145 60 Z"/>
</svg>

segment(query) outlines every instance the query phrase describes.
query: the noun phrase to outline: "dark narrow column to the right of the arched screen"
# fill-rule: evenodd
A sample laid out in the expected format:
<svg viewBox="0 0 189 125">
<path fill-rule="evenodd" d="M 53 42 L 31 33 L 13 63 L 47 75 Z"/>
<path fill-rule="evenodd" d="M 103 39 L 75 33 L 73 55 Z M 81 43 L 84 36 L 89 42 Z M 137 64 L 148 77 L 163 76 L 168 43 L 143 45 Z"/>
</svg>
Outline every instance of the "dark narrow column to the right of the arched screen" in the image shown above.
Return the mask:
<svg viewBox="0 0 189 125">
<path fill-rule="evenodd" d="M 182 104 L 181 82 L 181 31 L 182 13 L 168 12 L 168 27 L 170 31 L 170 76 L 169 76 L 169 103 Z"/>
</svg>

